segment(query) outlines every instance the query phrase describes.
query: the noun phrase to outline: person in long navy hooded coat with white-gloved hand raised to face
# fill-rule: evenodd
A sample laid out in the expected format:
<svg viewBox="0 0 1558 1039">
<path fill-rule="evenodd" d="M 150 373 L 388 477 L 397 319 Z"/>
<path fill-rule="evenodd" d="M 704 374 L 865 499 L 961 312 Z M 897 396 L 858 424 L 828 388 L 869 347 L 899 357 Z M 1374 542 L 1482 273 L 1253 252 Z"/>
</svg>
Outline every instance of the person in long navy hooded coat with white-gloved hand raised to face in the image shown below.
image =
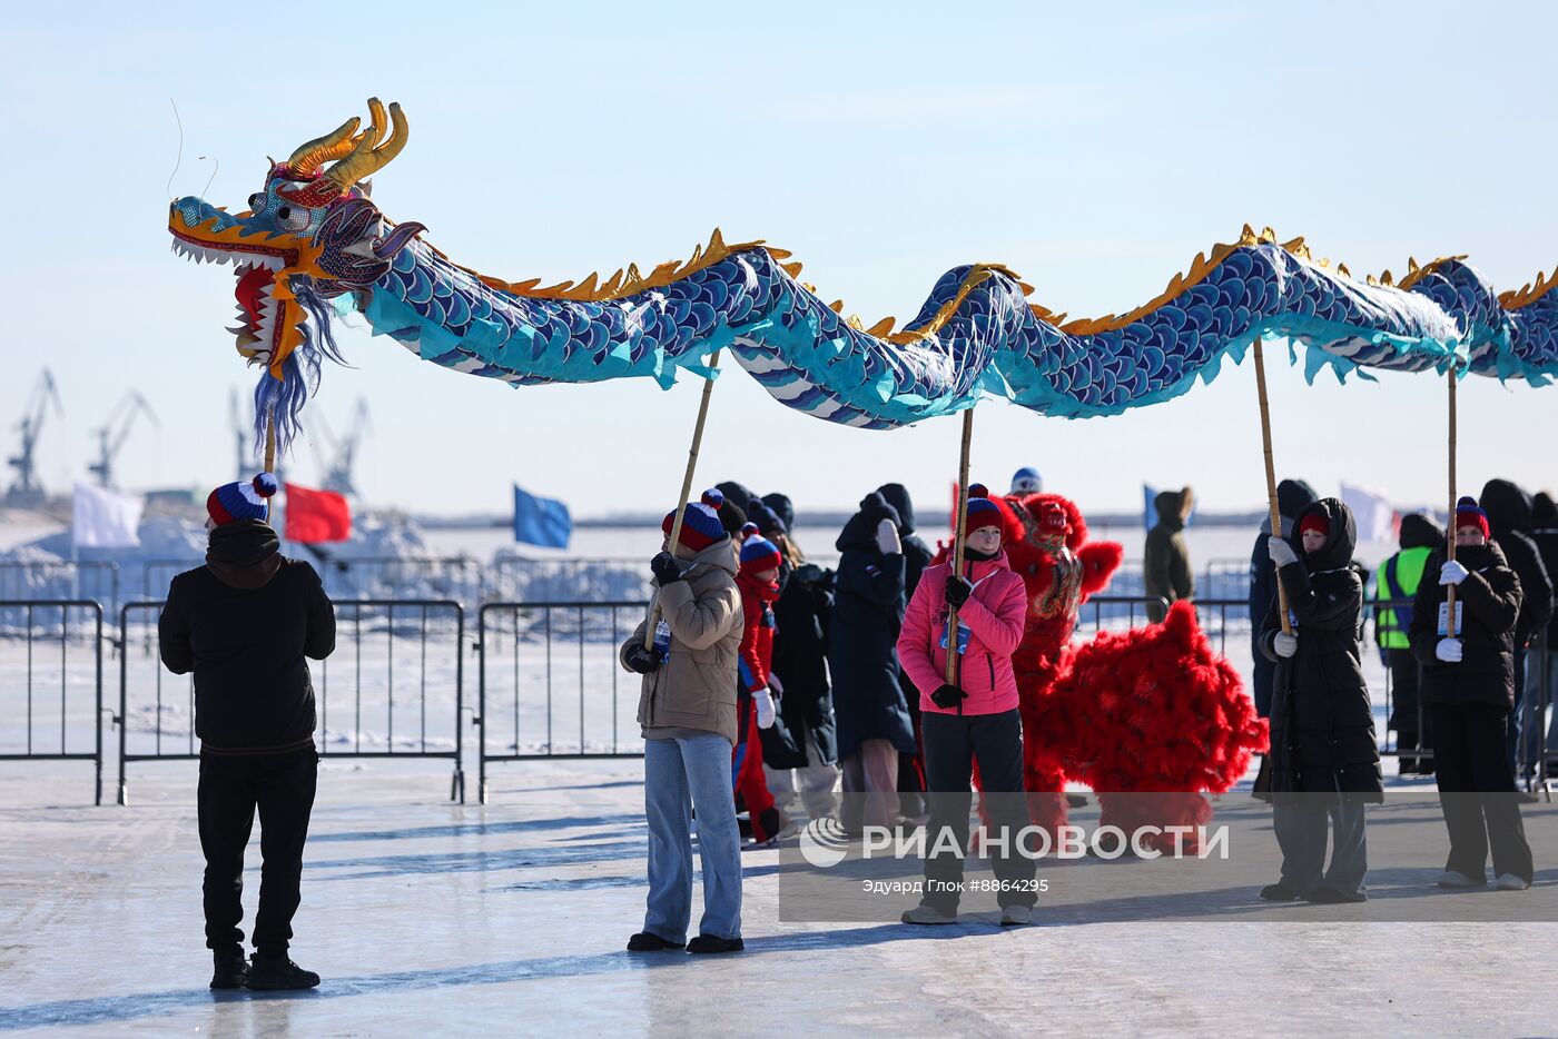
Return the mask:
<svg viewBox="0 0 1558 1039">
<path fill-rule="evenodd" d="M 897 755 L 913 754 L 915 727 L 899 684 L 897 632 L 904 625 L 904 547 L 897 511 L 872 491 L 838 536 L 838 576 L 827 632 L 834 676 L 843 822 L 897 821 Z M 860 812 L 865 810 L 865 815 Z"/>
</svg>

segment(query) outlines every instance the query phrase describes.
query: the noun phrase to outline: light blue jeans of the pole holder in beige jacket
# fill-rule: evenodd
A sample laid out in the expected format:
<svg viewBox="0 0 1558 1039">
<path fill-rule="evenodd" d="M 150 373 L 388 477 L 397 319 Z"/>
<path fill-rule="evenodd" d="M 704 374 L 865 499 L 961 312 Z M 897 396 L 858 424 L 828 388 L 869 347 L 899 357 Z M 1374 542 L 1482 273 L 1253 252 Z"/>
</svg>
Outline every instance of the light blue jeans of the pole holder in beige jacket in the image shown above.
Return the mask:
<svg viewBox="0 0 1558 1039">
<path fill-rule="evenodd" d="M 731 790 L 731 741 L 718 732 L 643 741 L 643 815 L 650 826 L 650 897 L 643 930 L 687 941 L 692 919 L 693 808 L 703 863 L 700 935 L 742 935 L 742 833 Z"/>
</svg>

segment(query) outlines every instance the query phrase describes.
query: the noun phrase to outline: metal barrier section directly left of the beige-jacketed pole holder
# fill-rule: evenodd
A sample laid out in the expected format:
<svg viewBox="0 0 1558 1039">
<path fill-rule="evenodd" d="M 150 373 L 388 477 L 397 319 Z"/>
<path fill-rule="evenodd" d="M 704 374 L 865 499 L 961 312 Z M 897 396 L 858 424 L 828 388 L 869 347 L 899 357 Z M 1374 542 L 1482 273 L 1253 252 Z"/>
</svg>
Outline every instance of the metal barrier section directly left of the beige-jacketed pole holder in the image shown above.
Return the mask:
<svg viewBox="0 0 1558 1039">
<path fill-rule="evenodd" d="M 617 662 L 617 646 L 647 608 L 647 601 L 481 606 L 474 718 L 481 804 L 488 762 L 643 755 L 637 681 Z"/>
</svg>

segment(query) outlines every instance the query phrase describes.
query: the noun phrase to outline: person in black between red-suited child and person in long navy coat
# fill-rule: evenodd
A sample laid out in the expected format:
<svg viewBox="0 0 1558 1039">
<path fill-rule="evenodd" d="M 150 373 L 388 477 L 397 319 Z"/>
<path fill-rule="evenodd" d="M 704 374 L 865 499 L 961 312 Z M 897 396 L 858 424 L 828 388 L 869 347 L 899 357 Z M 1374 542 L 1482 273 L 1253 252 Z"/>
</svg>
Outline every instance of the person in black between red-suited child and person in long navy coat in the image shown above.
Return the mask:
<svg viewBox="0 0 1558 1039">
<path fill-rule="evenodd" d="M 763 773 L 781 808 L 788 808 L 799 787 L 805 813 L 820 819 L 838 804 L 838 734 L 834 690 L 827 681 L 827 623 L 834 609 L 834 572 L 807 562 L 790 537 L 795 509 L 782 494 L 753 502 L 753 522 L 779 551 L 779 601 L 774 603 L 774 659 L 768 682 L 779 692 L 779 715 L 760 729 Z"/>
</svg>

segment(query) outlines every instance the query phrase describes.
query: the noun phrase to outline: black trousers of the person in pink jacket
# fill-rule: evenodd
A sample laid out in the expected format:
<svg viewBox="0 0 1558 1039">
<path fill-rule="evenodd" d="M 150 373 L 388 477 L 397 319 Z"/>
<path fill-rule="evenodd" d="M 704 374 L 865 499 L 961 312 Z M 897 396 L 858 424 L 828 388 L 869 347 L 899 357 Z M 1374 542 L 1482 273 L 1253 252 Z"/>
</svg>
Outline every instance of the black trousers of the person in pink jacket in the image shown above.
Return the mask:
<svg viewBox="0 0 1558 1039">
<path fill-rule="evenodd" d="M 991 869 L 1000 885 L 996 900 L 1002 907 L 1031 907 L 1035 860 L 1017 852 L 1019 832 L 1028 826 L 1027 794 L 1022 791 L 1022 721 L 1016 710 L 999 715 L 921 715 L 925 749 L 925 785 L 930 791 L 930 824 L 925 827 L 925 894 L 921 899 L 943 913 L 955 913 L 963 891 L 963 857 L 932 855 L 943 830 L 950 830 L 957 847 L 968 851 L 969 808 L 974 794 L 974 762 L 978 760 L 980 785 L 991 821 L 991 838 L 1005 835 L 1005 844 L 988 847 Z M 947 838 L 941 838 L 946 844 Z"/>
</svg>

